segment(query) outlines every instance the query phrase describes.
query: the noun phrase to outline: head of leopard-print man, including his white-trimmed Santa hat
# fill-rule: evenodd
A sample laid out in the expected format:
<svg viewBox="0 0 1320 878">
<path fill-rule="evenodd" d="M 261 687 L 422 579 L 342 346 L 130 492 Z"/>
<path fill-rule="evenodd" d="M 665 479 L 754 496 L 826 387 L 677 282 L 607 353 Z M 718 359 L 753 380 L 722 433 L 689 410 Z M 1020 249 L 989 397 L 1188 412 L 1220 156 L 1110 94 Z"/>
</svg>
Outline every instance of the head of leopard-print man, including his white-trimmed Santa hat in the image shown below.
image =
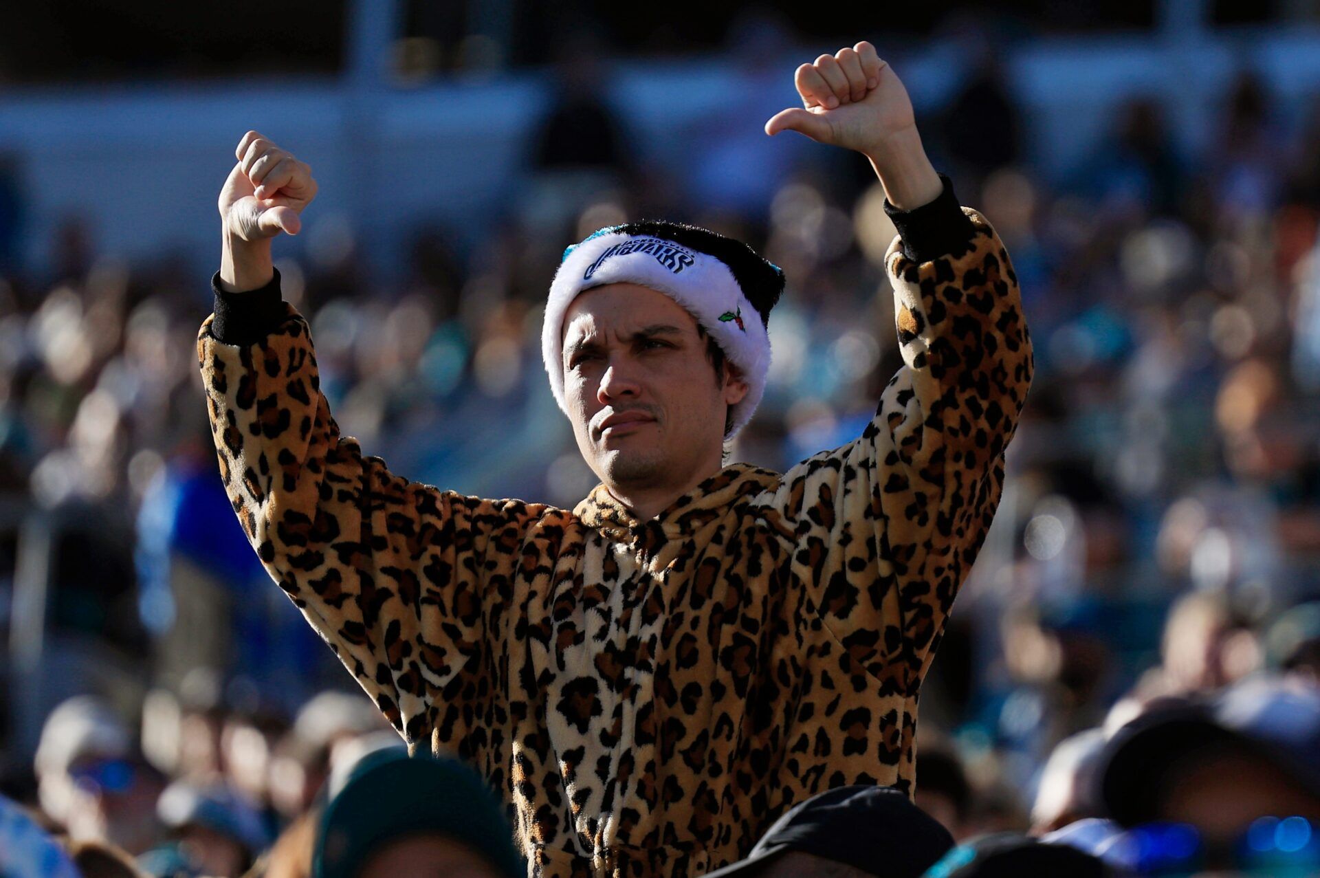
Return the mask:
<svg viewBox="0 0 1320 878">
<path fill-rule="evenodd" d="M 760 401 L 783 272 L 678 223 L 612 226 L 570 247 L 541 345 L 578 448 L 612 487 L 690 485 Z"/>
</svg>

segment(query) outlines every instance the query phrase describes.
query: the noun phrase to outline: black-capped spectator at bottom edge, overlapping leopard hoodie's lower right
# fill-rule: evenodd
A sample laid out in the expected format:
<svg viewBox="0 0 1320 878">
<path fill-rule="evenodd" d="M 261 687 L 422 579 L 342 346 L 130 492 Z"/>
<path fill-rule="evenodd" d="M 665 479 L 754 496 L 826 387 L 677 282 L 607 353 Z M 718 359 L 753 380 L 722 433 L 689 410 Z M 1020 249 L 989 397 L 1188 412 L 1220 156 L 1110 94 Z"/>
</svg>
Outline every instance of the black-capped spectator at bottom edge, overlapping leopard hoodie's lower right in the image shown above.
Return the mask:
<svg viewBox="0 0 1320 878">
<path fill-rule="evenodd" d="M 797 803 L 710 878 L 919 878 L 953 836 L 891 787 L 836 787 Z"/>
</svg>

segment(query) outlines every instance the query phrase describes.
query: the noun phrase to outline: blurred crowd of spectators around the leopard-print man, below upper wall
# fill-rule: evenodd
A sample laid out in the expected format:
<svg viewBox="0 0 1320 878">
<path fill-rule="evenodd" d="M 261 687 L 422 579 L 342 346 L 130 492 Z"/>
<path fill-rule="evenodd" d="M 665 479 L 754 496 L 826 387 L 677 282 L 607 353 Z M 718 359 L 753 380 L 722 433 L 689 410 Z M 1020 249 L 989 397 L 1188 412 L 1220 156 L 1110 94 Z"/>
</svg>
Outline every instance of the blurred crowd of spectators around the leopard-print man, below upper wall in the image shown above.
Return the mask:
<svg viewBox="0 0 1320 878">
<path fill-rule="evenodd" d="M 665 217 L 788 277 L 731 459 L 783 469 L 859 434 L 900 363 L 883 193 L 855 156 L 760 133 L 770 53 L 739 45 L 747 99 L 693 128 L 681 180 L 638 160 L 565 46 L 490 246 L 418 228 L 384 288 L 342 220 L 279 242 L 343 432 L 412 479 L 574 504 L 594 478 L 541 372 L 546 285 L 566 243 Z M 916 803 L 949 844 L 1030 832 L 1140 874 L 1320 874 L 1320 102 L 1284 107 L 1242 71 L 1189 154 L 1137 98 L 1047 177 L 985 51 L 919 121 L 1008 248 L 1036 382 L 923 689 Z M 55 252 L 0 277 L 3 792 L 124 869 L 310 874 L 329 803 L 397 735 L 323 691 L 348 676 L 234 522 L 193 353 L 205 273 L 124 264 L 77 218 Z M 991 837 L 929 874 L 1040 845 Z"/>
</svg>

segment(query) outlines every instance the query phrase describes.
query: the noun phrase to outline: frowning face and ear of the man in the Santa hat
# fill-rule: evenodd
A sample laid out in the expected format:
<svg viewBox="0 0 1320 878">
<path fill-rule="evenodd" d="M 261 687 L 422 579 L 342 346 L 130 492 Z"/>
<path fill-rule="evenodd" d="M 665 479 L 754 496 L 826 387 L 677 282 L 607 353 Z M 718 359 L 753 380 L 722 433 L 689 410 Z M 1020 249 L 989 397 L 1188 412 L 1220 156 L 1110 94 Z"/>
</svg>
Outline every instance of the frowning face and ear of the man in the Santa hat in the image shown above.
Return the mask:
<svg viewBox="0 0 1320 878">
<path fill-rule="evenodd" d="M 578 449 L 606 486 L 682 489 L 719 469 L 729 407 L 697 321 L 638 284 L 581 293 L 564 316 L 564 393 Z"/>
</svg>

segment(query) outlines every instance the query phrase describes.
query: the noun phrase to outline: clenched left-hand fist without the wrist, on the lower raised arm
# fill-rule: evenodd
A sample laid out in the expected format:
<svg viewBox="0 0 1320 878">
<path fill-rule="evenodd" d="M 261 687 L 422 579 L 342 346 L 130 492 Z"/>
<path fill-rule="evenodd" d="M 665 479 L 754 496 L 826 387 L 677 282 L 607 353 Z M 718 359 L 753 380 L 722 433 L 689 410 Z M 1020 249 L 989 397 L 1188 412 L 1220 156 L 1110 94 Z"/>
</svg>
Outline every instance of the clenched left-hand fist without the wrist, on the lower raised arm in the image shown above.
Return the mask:
<svg viewBox="0 0 1320 878">
<path fill-rule="evenodd" d="M 312 169 L 256 131 L 234 151 L 238 164 L 220 189 L 220 219 L 239 240 L 297 235 L 302 209 L 317 197 Z"/>
</svg>

